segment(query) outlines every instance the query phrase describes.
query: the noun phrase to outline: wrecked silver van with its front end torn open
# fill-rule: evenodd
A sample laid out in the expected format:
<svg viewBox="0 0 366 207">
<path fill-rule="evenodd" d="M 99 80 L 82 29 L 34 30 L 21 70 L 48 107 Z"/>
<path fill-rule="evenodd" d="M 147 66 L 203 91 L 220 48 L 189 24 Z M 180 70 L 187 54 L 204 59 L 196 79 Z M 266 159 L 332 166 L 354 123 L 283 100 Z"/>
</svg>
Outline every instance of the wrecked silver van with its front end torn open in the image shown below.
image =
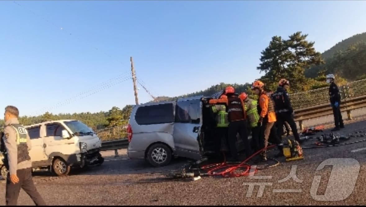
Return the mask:
<svg viewBox="0 0 366 207">
<path fill-rule="evenodd" d="M 175 156 L 201 160 L 215 144 L 215 118 L 205 103 L 221 94 L 134 106 L 127 127 L 128 157 L 153 166 L 167 165 Z M 243 149 L 240 142 L 238 150 Z"/>
</svg>

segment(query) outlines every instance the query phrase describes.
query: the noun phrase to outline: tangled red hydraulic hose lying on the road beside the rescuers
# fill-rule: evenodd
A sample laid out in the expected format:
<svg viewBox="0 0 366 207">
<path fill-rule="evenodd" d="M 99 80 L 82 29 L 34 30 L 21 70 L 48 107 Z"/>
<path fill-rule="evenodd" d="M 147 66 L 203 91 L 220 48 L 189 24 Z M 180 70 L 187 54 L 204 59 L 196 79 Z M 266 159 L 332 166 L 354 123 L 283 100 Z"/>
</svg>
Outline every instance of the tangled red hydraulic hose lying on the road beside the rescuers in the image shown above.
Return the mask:
<svg viewBox="0 0 366 207">
<path fill-rule="evenodd" d="M 249 161 L 251 158 L 253 158 L 255 155 L 261 153 L 262 151 L 266 150 L 267 148 L 271 148 L 276 146 L 275 144 L 267 146 L 259 151 L 257 151 L 256 153 L 254 153 L 253 155 L 251 155 L 250 157 L 248 157 L 247 159 L 245 159 L 244 161 L 240 162 L 239 164 L 229 164 L 226 162 L 225 159 L 225 155 L 224 155 L 224 161 L 221 163 L 215 163 L 215 164 L 210 164 L 210 165 L 205 165 L 202 166 L 201 169 L 203 170 L 207 170 L 207 174 L 209 176 L 218 176 L 221 175 L 223 177 L 241 177 L 241 176 L 249 176 L 250 174 L 255 174 L 258 170 L 255 169 L 254 172 L 250 173 L 250 169 L 251 166 L 248 165 L 246 162 Z M 215 173 L 215 171 L 217 170 L 222 170 L 221 172 L 217 172 Z M 236 170 L 243 170 L 244 172 L 242 173 L 236 173 Z"/>
</svg>

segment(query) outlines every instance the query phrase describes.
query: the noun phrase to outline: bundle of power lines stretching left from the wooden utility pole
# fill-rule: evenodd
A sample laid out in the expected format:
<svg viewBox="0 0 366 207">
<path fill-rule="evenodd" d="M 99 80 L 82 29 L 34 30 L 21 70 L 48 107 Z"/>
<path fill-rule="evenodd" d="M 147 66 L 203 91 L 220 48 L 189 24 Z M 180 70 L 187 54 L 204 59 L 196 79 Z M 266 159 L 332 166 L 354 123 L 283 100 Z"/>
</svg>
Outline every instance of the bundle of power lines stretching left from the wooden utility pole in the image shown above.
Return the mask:
<svg viewBox="0 0 366 207">
<path fill-rule="evenodd" d="M 100 92 L 100 91 L 102 91 L 102 90 L 108 89 L 108 88 L 110 88 L 110 87 L 112 87 L 112 86 L 115 86 L 116 84 L 122 83 L 122 82 L 124 82 L 124 81 L 129 80 L 129 79 L 131 79 L 131 77 L 129 77 L 129 76 L 121 77 L 121 78 L 117 78 L 117 80 L 119 80 L 119 81 L 109 82 L 108 84 L 104 84 L 101 88 L 99 88 L 99 89 L 98 89 L 98 90 L 96 90 L 96 91 L 89 90 L 89 91 L 87 91 L 87 92 L 91 92 L 91 93 L 89 93 L 89 94 L 87 94 L 87 95 L 85 95 L 85 96 L 81 96 L 81 95 L 86 94 L 87 92 L 80 93 L 79 95 L 76 95 L 76 96 L 74 96 L 73 98 L 69 98 L 69 99 L 67 99 L 66 101 L 59 102 L 59 103 L 58 103 L 58 104 L 56 104 L 56 105 L 53 105 L 53 106 L 51 106 L 51 107 L 49 107 L 49 108 L 46 108 L 46 110 L 38 111 L 38 113 L 36 113 L 36 116 L 37 116 L 37 115 L 39 115 L 39 114 L 43 114 L 44 112 L 47 112 L 47 111 L 49 111 L 49 110 L 52 110 L 52 109 L 55 109 L 55 108 L 59 108 L 60 106 L 64 106 L 64 105 L 70 104 L 70 103 L 72 103 L 72 102 L 74 102 L 74 101 L 77 101 L 77 100 L 80 100 L 80 99 L 83 99 L 83 98 L 89 97 L 90 95 L 96 94 L 96 93 L 98 93 L 98 92 Z M 78 97 L 81 97 L 81 98 L 77 99 Z M 41 112 L 41 113 L 39 113 L 39 112 Z"/>
</svg>

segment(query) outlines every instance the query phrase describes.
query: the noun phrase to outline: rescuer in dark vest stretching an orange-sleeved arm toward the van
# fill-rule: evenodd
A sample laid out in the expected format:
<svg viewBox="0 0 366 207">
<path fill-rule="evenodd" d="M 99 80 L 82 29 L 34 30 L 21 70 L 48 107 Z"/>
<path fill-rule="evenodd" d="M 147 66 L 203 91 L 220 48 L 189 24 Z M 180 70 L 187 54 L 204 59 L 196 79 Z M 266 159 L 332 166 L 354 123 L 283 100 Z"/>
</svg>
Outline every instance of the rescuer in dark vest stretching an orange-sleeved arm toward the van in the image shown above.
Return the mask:
<svg viewBox="0 0 366 207">
<path fill-rule="evenodd" d="M 209 100 L 209 104 L 223 103 L 227 105 L 228 119 L 229 119 L 229 127 L 228 127 L 229 148 L 232 155 L 232 161 L 238 161 L 239 160 L 238 151 L 236 149 L 237 133 L 239 133 L 240 138 L 244 142 L 244 150 L 246 157 L 249 157 L 251 154 L 247 134 L 245 108 L 243 100 L 239 98 L 238 94 L 235 94 L 235 90 L 233 87 L 231 86 L 226 87 L 225 95 L 227 95 L 227 98 L 211 99 Z"/>
</svg>

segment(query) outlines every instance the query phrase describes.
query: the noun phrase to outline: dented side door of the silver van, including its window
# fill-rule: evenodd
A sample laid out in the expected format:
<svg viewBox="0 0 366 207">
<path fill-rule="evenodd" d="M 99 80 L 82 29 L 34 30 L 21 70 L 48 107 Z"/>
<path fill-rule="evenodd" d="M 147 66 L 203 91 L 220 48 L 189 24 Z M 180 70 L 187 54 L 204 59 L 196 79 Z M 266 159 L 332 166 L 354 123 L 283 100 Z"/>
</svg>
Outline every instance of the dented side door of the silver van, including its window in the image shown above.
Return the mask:
<svg viewBox="0 0 366 207">
<path fill-rule="evenodd" d="M 199 135 L 202 126 L 201 97 L 179 99 L 175 106 L 173 128 L 176 154 L 195 160 L 201 159 Z"/>
</svg>

